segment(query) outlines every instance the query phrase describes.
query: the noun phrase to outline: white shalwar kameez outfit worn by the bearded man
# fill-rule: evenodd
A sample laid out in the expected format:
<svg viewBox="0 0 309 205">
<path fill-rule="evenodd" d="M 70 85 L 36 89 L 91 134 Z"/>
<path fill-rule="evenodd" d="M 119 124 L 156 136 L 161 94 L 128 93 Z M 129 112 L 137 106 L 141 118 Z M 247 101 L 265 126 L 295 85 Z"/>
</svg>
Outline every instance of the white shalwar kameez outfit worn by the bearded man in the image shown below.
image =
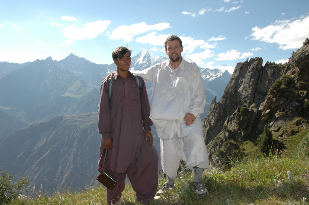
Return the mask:
<svg viewBox="0 0 309 205">
<path fill-rule="evenodd" d="M 204 112 L 206 98 L 197 65 L 182 58 L 176 69 L 168 60 L 131 72 L 152 82 L 150 119 L 161 138 L 163 172 L 175 180 L 180 159 L 186 161 L 188 168 L 208 169 L 208 154 L 199 116 Z M 188 112 L 196 117 L 190 126 L 184 123 Z"/>
</svg>

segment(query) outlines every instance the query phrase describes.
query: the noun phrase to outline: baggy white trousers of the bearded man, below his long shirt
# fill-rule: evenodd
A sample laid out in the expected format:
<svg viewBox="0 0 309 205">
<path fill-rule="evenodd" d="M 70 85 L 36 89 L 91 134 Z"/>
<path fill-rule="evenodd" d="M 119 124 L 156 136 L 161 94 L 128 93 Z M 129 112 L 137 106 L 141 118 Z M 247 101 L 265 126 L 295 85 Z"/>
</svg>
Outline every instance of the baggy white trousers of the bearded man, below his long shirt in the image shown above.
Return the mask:
<svg viewBox="0 0 309 205">
<path fill-rule="evenodd" d="M 160 139 L 163 173 L 173 180 L 177 177 L 181 159 L 186 162 L 186 167 L 192 170 L 193 167 L 209 168 L 201 118 L 198 116 L 190 126 L 192 126 L 193 133 L 188 136 L 180 138 L 179 130 L 177 130 L 173 138 Z"/>
</svg>

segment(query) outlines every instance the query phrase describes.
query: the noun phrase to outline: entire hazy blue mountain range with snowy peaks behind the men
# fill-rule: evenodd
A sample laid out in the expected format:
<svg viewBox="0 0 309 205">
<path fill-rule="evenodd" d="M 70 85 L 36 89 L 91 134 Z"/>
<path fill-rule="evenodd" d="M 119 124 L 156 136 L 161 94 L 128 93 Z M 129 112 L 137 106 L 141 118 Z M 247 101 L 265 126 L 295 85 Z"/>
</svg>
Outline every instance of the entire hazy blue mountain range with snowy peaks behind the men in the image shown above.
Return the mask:
<svg viewBox="0 0 309 205">
<path fill-rule="evenodd" d="M 164 60 L 142 50 L 132 57 L 131 69 Z M 27 176 L 31 186 L 43 184 L 49 193 L 96 183 L 99 90 L 115 70 L 114 64 L 99 65 L 73 54 L 60 61 L 0 62 L 0 171 L 13 174 L 13 182 Z M 208 102 L 203 118 L 212 99 L 223 95 L 231 74 L 200 70 Z M 151 102 L 151 83 L 146 88 Z M 152 130 L 159 153 L 160 140 Z"/>
</svg>

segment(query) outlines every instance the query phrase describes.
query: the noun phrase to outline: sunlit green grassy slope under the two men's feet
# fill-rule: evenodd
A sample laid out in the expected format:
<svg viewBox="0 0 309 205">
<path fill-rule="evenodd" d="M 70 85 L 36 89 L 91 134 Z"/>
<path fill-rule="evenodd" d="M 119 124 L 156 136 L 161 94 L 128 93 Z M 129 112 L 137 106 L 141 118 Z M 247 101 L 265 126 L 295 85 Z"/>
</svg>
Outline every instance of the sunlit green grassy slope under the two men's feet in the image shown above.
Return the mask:
<svg viewBox="0 0 309 205">
<path fill-rule="evenodd" d="M 274 135 L 276 140 L 286 144 L 286 151 L 281 154 L 263 156 L 255 146 L 253 137 L 241 145 L 247 156 L 243 162 L 233 163 L 231 169 L 205 170 L 203 179 L 210 192 L 209 197 L 195 197 L 191 188 L 193 175 L 188 172 L 178 175 L 175 189 L 167 191 L 160 201 L 150 204 L 309 204 L 309 157 L 297 150 L 300 140 L 308 135 L 309 128 L 293 125 L 295 120 Z M 298 132 L 289 138 L 278 137 L 280 131 L 291 126 Z M 293 181 L 288 178 L 288 170 Z M 159 178 L 159 184 L 164 182 L 164 178 Z M 135 192 L 130 184 L 126 185 L 122 198 L 125 204 L 136 204 Z M 304 198 L 307 198 L 305 203 L 301 201 Z M 106 204 L 105 189 L 93 186 L 79 193 L 63 191 L 51 197 L 18 199 L 13 204 Z"/>
</svg>

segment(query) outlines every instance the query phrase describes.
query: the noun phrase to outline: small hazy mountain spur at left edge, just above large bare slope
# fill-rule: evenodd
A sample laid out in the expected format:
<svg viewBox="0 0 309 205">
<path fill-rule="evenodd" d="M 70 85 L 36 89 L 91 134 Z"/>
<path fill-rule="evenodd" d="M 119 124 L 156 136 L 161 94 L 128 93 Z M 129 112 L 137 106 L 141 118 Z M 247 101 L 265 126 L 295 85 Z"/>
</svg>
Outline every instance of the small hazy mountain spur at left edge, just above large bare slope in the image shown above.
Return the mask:
<svg viewBox="0 0 309 205">
<path fill-rule="evenodd" d="M 26 125 L 27 123 L 0 110 L 0 138 Z"/>
</svg>

